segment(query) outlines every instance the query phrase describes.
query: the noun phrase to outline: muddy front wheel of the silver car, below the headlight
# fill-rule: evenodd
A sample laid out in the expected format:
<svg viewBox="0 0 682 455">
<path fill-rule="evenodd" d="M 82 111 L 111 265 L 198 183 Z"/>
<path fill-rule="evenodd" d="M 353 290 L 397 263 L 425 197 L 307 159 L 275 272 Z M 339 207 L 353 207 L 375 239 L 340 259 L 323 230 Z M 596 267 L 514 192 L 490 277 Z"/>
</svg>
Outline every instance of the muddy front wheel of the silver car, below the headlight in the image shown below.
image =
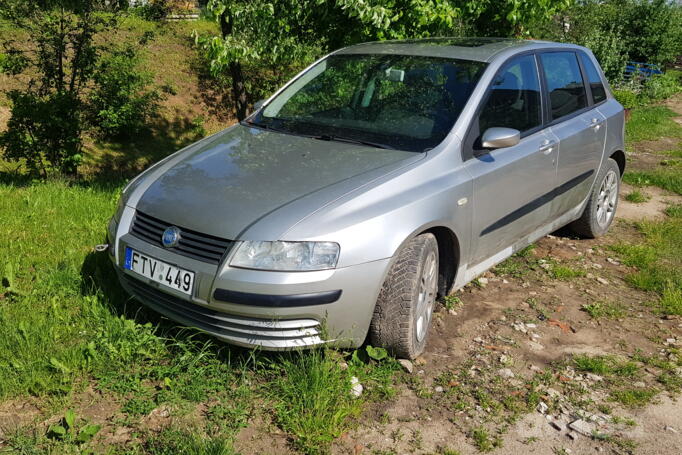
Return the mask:
<svg viewBox="0 0 682 455">
<path fill-rule="evenodd" d="M 426 347 L 438 292 L 438 242 L 433 234 L 410 240 L 386 277 L 370 324 L 370 342 L 414 359 Z"/>
</svg>

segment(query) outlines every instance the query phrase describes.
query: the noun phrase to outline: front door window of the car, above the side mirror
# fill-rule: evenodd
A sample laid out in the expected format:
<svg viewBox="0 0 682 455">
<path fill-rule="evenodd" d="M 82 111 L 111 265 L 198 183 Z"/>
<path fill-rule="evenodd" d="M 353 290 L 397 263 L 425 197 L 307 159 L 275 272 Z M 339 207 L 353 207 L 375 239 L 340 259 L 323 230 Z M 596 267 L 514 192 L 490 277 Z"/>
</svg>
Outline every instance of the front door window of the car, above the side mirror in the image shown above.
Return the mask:
<svg viewBox="0 0 682 455">
<path fill-rule="evenodd" d="M 479 115 L 481 134 L 488 128 L 514 128 L 521 133 L 542 124 L 540 80 L 533 55 L 508 62 L 492 82 Z"/>
</svg>

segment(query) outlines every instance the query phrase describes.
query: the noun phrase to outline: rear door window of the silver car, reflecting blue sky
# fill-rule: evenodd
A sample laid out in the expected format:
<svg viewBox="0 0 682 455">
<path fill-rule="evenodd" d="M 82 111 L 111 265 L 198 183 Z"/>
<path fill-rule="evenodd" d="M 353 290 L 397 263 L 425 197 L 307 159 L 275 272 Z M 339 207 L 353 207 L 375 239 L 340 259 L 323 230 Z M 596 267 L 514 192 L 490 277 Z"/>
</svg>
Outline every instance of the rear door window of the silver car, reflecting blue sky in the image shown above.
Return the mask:
<svg viewBox="0 0 682 455">
<path fill-rule="evenodd" d="M 585 84 L 576 55 L 573 52 L 547 52 L 540 54 L 540 60 L 547 79 L 551 119 L 587 107 Z"/>
</svg>

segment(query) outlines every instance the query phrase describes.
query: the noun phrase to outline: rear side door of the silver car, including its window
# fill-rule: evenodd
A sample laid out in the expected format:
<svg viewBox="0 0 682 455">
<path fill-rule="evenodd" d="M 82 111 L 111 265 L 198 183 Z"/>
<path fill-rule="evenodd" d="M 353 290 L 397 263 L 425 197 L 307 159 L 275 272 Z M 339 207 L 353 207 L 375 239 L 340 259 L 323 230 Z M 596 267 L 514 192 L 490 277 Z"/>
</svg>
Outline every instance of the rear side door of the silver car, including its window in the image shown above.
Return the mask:
<svg viewBox="0 0 682 455">
<path fill-rule="evenodd" d="M 604 150 L 606 119 L 585 84 L 588 75 L 579 60 L 581 55 L 574 51 L 539 54 L 547 88 L 548 121 L 559 141 L 557 187 L 550 209 L 553 219 L 585 200 Z"/>
</svg>

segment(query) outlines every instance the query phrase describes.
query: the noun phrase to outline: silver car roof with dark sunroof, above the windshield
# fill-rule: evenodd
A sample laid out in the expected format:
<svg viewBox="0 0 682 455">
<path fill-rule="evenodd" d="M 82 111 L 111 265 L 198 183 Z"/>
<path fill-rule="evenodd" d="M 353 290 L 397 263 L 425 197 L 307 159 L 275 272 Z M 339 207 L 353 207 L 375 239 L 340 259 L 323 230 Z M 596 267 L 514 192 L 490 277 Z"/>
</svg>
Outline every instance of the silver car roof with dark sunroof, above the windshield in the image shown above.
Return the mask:
<svg viewBox="0 0 682 455">
<path fill-rule="evenodd" d="M 552 41 L 514 38 L 423 38 L 414 40 L 375 41 L 341 49 L 336 54 L 401 54 L 446 57 L 490 62 L 505 50 L 518 52 L 543 48 L 578 48 L 579 46 Z M 506 54 L 506 53 L 505 53 Z"/>
</svg>

